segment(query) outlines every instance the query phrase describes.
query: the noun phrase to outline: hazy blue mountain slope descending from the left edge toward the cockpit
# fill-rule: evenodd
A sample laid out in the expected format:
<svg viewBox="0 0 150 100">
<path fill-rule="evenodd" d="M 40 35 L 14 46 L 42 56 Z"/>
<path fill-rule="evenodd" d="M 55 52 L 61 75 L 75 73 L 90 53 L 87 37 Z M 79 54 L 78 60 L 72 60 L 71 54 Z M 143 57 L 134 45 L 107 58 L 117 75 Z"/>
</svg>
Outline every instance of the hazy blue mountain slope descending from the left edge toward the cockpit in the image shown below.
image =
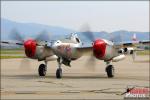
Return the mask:
<svg viewBox="0 0 150 100">
<path fill-rule="evenodd" d="M 1 19 L 1 40 L 9 40 L 10 34 L 13 30 L 17 30 L 24 38 L 27 37 L 36 37 L 42 31 L 46 31 L 50 36 L 64 35 L 68 33 L 75 32 L 74 30 L 57 27 L 57 26 L 48 26 L 35 23 L 19 23 L 11 20 Z"/>
</svg>

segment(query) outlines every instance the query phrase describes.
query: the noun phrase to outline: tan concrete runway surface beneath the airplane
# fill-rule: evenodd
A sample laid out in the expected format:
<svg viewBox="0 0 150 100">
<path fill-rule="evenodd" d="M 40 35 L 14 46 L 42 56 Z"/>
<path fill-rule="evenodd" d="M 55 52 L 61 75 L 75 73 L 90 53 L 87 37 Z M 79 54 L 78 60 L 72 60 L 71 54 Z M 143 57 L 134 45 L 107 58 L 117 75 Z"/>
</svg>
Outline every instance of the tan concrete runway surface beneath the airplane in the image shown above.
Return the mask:
<svg viewBox="0 0 150 100">
<path fill-rule="evenodd" d="M 71 68 L 63 65 L 62 79 L 55 78 L 56 61 L 48 62 L 46 77 L 39 77 L 43 62 L 1 59 L 1 99 L 123 99 L 128 86 L 149 88 L 149 56 L 112 63 L 114 78 L 107 78 L 103 61 L 96 60 L 94 69 L 87 59 L 73 61 Z"/>
</svg>

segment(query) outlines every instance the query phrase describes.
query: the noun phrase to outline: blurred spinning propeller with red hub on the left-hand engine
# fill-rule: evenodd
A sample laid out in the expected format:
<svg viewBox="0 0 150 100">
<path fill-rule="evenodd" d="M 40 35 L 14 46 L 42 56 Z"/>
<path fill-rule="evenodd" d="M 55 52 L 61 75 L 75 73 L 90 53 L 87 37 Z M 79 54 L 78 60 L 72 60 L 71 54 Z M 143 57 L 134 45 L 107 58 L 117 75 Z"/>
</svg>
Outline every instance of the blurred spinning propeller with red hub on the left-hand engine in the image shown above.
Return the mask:
<svg viewBox="0 0 150 100">
<path fill-rule="evenodd" d="M 40 32 L 33 39 L 31 39 L 31 38 L 30 39 L 25 39 L 25 38 L 23 38 L 23 36 L 21 35 L 20 32 L 13 29 L 11 31 L 9 37 L 10 37 L 11 40 L 18 41 L 18 43 L 15 43 L 16 45 L 24 46 L 26 56 L 31 57 L 31 58 L 35 55 L 36 46 L 45 45 L 45 44 L 41 44 L 40 41 L 50 41 L 50 36 L 49 36 L 47 31 Z M 3 42 L 3 41 L 1 43 L 13 44 L 13 43 L 10 43 L 10 42 Z M 26 67 L 26 69 L 30 68 L 29 59 L 26 59 L 26 58 L 22 59 L 20 68 L 25 69 L 24 67 Z"/>
</svg>

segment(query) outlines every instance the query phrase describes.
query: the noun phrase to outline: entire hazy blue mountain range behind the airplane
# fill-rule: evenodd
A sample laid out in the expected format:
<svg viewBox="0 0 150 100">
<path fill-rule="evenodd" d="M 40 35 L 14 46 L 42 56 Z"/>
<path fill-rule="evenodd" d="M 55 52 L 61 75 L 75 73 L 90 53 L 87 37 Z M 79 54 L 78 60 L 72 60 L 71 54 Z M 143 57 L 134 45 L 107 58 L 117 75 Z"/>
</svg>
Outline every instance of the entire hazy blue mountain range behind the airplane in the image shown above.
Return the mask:
<svg viewBox="0 0 150 100">
<path fill-rule="evenodd" d="M 9 35 L 12 33 L 12 30 L 16 29 L 24 38 L 34 38 L 40 32 L 47 31 L 50 34 L 50 38 L 52 40 L 65 38 L 66 35 L 75 32 L 73 29 L 68 29 L 64 27 L 58 26 L 48 26 L 36 23 L 20 23 L 11 21 L 8 19 L 1 19 L 1 40 L 11 40 Z M 89 39 L 85 36 L 85 34 L 81 32 L 76 32 L 80 39 L 88 43 Z M 108 33 L 105 31 L 101 32 L 92 32 L 94 34 L 95 39 L 104 38 L 108 40 L 114 40 L 115 42 L 123 42 L 123 41 L 132 41 L 133 34 L 136 34 L 137 40 L 149 40 L 149 32 L 135 32 L 135 31 L 126 31 L 119 30 L 112 33 Z M 41 36 L 42 37 L 42 36 Z"/>
</svg>

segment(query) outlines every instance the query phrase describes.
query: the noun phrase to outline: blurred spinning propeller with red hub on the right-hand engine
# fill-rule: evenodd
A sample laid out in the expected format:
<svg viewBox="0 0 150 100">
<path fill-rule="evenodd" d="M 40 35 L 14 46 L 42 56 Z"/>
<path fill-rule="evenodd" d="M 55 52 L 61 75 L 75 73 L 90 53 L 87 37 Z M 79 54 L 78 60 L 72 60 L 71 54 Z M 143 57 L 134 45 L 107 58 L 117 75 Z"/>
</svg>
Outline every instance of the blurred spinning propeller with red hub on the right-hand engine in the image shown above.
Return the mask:
<svg viewBox="0 0 150 100">
<path fill-rule="evenodd" d="M 82 28 L 82 34 L 91 42 L 93 46 L 93 53 L 90 58 L 87 60 L 86 65 L 89 70 L 94 71 L 96 65 L 96 58 L 100 59 L 105 54 L 106 43 L 101 39 L 96 39 L 94 33 L 90 30 L 88 24 L 84 25 Z M 96 57 L 96 58 L 95 58 Z"/>
</svg>

